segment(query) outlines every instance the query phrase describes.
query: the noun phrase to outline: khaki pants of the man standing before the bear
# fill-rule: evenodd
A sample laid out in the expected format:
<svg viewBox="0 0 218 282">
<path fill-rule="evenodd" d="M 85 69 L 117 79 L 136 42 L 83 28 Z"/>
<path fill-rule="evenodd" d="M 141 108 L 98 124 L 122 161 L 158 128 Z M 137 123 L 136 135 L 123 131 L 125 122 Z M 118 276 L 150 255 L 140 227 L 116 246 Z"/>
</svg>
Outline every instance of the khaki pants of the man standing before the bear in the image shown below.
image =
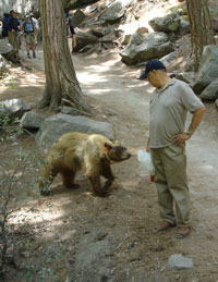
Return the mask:
<svg viewBox="0 0 218 282">
<path fill-rule="evenodd" d="M 186 177 L 185 146 L 150 149 L 155 167 L 160 217 L 178 226 L 190 226 L 190 193 Z"/>
</svg>

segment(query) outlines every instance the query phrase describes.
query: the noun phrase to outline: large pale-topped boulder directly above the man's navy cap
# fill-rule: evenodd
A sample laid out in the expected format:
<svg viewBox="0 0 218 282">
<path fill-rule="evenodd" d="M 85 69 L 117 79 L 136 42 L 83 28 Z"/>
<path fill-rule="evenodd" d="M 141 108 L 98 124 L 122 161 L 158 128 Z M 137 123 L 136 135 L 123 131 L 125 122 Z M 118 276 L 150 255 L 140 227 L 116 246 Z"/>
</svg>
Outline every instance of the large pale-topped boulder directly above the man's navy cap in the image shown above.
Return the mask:
<svg viewBox="0 0 218 282">
<path fill-rule="evenodd" d="M 124 63 L 134 64 L 161 58 L 172 51 L 172 44 L 168 41 L 168 36 L 165 33 L 135 33 L 131 36 L 126 48 L 120 52 L 120 56 Z"/>
</svg>

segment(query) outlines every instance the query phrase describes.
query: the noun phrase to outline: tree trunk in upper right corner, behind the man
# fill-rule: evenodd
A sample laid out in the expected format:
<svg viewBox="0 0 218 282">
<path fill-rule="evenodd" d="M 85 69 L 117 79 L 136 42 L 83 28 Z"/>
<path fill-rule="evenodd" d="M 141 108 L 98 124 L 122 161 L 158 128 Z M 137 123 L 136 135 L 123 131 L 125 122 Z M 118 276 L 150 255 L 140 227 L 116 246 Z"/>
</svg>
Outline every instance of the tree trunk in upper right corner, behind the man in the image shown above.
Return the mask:
<svg viewBox="0 0 218 282">
<path fill-rule="evenodd" d="M 208 0 L 186 0 L 192 37 L 192 57 L 197 71 L 206 45 L 215 45 Z"/>
</svg>

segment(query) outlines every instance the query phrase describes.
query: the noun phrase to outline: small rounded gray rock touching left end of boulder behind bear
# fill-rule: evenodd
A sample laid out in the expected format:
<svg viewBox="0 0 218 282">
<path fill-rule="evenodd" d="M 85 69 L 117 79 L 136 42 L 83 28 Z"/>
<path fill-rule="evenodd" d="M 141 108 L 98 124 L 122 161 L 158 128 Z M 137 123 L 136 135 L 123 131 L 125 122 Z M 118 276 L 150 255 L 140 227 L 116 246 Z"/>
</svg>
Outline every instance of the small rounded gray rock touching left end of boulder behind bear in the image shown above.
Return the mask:
<svg viewBox="0 0 218 282">
<path fill-rule="evenodd" d="M 21 125 L 23 128 L 26 130 L 38 130 L 41 125 L 41 123 L 45 121 L 45 118 L 40 114 L 28 111 L 25 112 L 24 115 L 21 119 Z"/>
</svg>

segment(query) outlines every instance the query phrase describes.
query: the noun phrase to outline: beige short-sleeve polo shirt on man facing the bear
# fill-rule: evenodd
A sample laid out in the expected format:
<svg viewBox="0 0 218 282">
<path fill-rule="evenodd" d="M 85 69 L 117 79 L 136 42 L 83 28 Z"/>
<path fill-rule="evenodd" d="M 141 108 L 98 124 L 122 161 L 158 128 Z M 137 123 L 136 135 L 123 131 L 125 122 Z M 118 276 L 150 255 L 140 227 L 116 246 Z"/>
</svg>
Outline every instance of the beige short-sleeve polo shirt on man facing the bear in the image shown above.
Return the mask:
<svg viewBox="0 0 218 282">
<path fill-rule="evenodd" d="M 193 113 L 202 107 L 192 88 L 177 78 L 156 89 L 149 106 L 149 147 L 170 146 L 173 136 L 184 132 L 187 111 Z"/>
</svg>

